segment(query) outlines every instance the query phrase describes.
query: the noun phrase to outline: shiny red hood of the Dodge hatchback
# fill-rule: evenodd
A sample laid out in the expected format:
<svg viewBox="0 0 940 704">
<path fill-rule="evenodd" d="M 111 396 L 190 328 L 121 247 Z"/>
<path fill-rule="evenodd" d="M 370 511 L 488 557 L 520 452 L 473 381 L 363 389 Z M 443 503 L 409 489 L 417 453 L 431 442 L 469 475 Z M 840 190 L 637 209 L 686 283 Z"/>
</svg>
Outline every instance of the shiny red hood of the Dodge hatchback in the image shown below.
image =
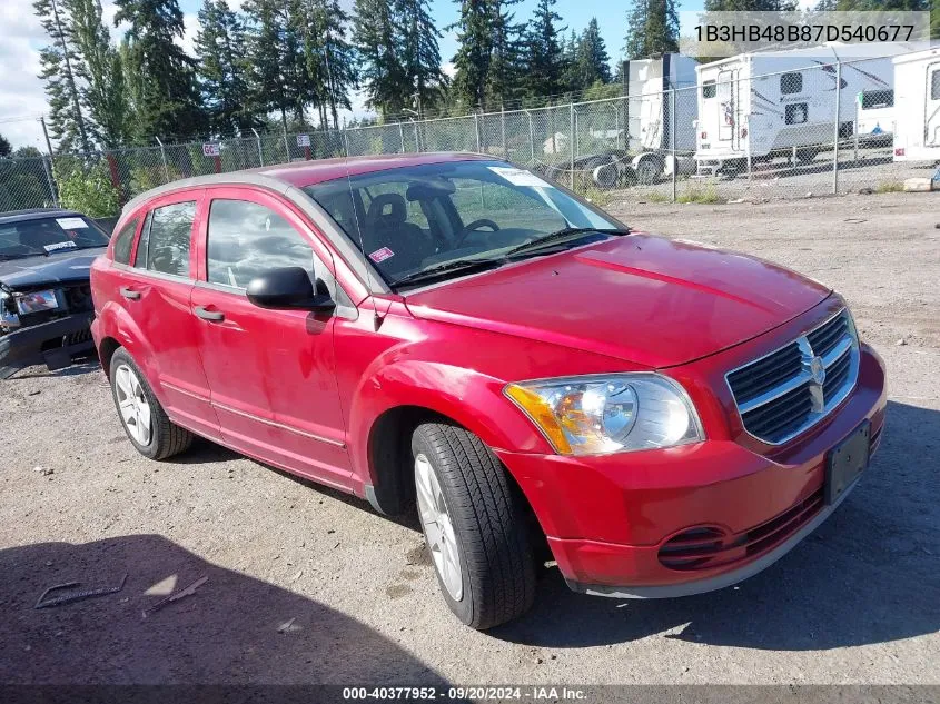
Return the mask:
<svg viewBox="0 0 940 704">
<path fill-rule="evenodd" d="M 662 368 L 761 335 L 830 294 L 754 257 L 631 235 L 417 291 L 406 303 L 419 318 Z"/>
</svg>

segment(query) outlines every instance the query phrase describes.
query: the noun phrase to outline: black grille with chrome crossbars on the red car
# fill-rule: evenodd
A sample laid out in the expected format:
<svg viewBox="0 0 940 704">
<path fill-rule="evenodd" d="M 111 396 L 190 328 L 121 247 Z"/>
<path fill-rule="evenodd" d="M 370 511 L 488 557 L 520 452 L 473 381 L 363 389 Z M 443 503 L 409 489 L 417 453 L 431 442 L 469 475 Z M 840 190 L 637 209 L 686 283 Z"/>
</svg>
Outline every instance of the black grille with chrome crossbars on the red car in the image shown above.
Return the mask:
<svg viewBox="0 0 940 704">
<path fill-rule="evenodd" d="M 780 445 L 842 403 L 858 375 L 859 340 L 843 309 L 725 378 L 744 429 L 764 443 Z"/>
</svg>

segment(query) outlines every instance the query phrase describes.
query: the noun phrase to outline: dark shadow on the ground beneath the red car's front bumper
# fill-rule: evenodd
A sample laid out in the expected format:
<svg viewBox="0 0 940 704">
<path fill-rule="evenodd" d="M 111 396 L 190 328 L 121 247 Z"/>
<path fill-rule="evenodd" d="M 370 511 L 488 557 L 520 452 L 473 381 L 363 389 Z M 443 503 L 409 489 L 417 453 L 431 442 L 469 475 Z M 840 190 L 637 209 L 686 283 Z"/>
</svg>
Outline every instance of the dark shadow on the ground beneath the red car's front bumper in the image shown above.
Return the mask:
<svg viewBox="0 0 940 704">
<path fill-rule="evenodd" d="M 859 487 L 763 573 L 720 592 L 615 601 L 574 594 L 547 573 L 526 616 L 494 637 L 582 647 L 662 635 L 711 645 L 805 651 L 940 629 L 940 412 L 889 403 L 884 439 Z"/>
</svg>

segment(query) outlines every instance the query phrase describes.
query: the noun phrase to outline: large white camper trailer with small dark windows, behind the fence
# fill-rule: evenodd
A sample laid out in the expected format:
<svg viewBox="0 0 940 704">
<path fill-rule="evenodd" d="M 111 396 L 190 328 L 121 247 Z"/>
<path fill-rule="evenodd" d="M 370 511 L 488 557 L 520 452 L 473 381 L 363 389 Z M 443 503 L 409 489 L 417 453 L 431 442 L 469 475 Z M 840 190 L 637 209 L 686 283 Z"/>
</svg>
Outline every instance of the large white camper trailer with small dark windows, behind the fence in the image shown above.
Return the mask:
<svg viewBox="0 0 940 704">
<path fill-rule="evenodd" d="M 879 51 L 872 58 L 871 52 Z M 893 87 L 891 57 L 910 50 L 894 43 L 827 44 L 742 53 L 696 68 L 699 120 L 695 160 L 700 173 L 743 168 L 792 155 L 810 162 L 855 129 L 859 93 Z M 839 103 L 834 98 L 839 89 Z"/>
</svg>

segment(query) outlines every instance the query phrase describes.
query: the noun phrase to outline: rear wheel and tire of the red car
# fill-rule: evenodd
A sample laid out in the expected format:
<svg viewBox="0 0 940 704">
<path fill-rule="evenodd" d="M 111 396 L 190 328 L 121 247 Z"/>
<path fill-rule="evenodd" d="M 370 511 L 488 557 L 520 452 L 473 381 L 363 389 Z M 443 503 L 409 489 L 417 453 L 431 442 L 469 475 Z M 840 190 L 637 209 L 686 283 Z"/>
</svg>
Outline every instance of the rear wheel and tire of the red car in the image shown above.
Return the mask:
<svg viewBox="0 0 940 704">
<path fill-rule="evenodd" d="M 169 419 L 140 367 L 123 347 L 111 357 L 111 396 L 128 439 L 149 459 L 166 459 L 192 445 L 194 436 Z"/>
</svg>

